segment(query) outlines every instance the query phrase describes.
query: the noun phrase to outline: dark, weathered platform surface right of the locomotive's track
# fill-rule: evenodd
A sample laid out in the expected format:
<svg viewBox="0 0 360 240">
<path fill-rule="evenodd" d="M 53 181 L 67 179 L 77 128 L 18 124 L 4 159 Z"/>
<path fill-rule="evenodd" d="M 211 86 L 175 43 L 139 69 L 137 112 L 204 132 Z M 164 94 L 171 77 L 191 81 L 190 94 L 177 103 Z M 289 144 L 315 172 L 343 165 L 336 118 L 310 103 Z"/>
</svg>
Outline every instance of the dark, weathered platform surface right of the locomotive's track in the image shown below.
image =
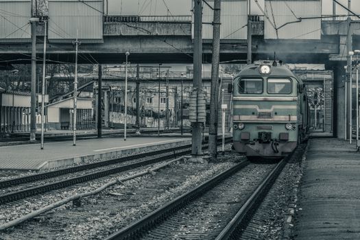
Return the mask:
<svg viewBox="0 0 360 240">
<path fill-rule="evenodd" d="M 310 139 L 293 239 L 360 239 L 360 152 L 340 139 Z"/>
</svg>

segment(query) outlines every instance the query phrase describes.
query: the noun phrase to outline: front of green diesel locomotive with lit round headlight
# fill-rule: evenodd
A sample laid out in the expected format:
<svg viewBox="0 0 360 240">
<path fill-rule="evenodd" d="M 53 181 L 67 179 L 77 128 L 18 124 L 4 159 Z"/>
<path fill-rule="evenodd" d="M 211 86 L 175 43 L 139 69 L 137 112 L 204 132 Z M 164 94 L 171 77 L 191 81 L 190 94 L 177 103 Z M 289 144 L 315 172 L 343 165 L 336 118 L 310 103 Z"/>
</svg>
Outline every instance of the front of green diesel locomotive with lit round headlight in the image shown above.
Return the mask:
<svg viewBox="0 0 360 240">
<path fill-rule="evenodd" d="M 233 141 L 246 156 L 283 157 L 302 131 L 302 82 L 283 65 L 251 64 L 233 82 Z"/>
</svg>

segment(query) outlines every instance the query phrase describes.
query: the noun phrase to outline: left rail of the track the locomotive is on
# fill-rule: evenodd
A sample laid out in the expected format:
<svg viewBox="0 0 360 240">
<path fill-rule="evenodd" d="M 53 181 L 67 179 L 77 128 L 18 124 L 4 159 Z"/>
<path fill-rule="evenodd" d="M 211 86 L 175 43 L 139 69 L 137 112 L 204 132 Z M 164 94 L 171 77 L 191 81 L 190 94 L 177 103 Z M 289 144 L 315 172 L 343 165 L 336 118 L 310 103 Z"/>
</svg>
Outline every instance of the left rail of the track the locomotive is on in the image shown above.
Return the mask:
<svg viewBox="0 0 360 240">
<path fill-rule="evenodd" d="M 168 217 L 168 215 L 171 215 L 171 213 L 175 213 L 180 208 L 183 208 L 184 206 L 189 204 L 189 202 L 197 199 L 201 195 L 204 195 L 206 191 L 212 189 L 213 187 L 215 187 L 216 184 L 228 178 L 229 176 L 232 176 L 233 173 L 239 171 L 241 168 L 245 167 L 248 164 L 248 161 L 243 161 L 238 165 L 235 165 L 234 167 L 222 173 L 219 173 L 217 176 L 211 178 L 210 180 L 207 180 L 195 189 L 184 193 L 183 195 L 180 195 L 180 197 L 176 197 L 175 200 L 172 200 L 165 206 L 156 209 L 152 213 L 149 213 L 148 215 L 134 222 L 130 226 L 127 226 L 113 233 L 112 235 L 108 236 L 106 240 L 138 239 L 144 232 L 164 221 Z"/>
</svg>

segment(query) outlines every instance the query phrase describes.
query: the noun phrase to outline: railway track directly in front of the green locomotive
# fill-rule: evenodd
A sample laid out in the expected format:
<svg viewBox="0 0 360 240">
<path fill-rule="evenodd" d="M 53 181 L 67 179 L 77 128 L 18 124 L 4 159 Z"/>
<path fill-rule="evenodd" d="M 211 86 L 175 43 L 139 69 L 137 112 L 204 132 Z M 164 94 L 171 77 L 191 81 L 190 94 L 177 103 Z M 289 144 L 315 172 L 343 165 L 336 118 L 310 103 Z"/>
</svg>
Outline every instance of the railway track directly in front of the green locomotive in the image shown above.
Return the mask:
<svg viewBox="0 0 360 240">
<path fill-rule="evenodd" d="M 239 184 L 239 178 L 235 178 L 234 176 L 241 173 L 241 171 L 239 171 L 240 169 L 249 165 L 248 161 L 239 163 L 235 165 L 235 167 L 204 182 L 195 189 L 184 193 L 130 226 L 113 233 L 107 240 L 140 239 L 141 237 L 143 237 L 143 239 L 162 239 L 164 236 L 169 239 L 203 239 L 204 236 L 208 239 L 218 240 L 239 239 L 239 232 L 241 233 L 241 230 L 245 228 L 248 219 L 252 213 L 254 213 L 256 207 L 259 206 L 259 203 L 262 202 L 267 191 L 271 188 L 273 182 L 286 165 L 286 161 L 287 159 L 281 160 L 276 164 L 276 167 L 267 171 L 265 177 L 261 176 L 259 185 L 256 186 L 255 184 L 249 193 L 239 193 L 239 195 L 248 195 L 248 197 L 245 197 L 243 200 L 234 199 L 229 195 L 232 194 L 232 191 L 239 191 L 239 187 L 237 186 L 237 184 Z M 252 175 L 256 176 L 256 171 L 252 172 Z M 226 183 L 226 181 L 230 182 Z M 248 180 L 249 184 L 251 182 L 252 181 Z M 214 192 L 211 193 L 211 191 Z M 211 205 L 212 197 L 216 198 L 219 195 L 221 195 L 221 197 L 215 202 L 215 205 Z M 223 215 L 229 214 L 226 213 L 228 208 L 232 208 L 232 206 L 237 204 L 239 204 L 239 206 L 237 206 L 238 211 L 231 213 L 231 217 L 228 217 L 228 219 L 223 217 Z M 195 207 L 191 205 L 195 205 Z M 199 210 L 196 206 L 202 206 L 202 208 Z M 202 213 L 203 211 L 205 214 Z M 195 219 L 191 219 L 192 217 Z M 184 219 L 185 221 L 181 221 Z M 224 220 L 226 220 L 226 222 L 224 222 Z M 176 226 L 176 224 L 180 222 L 182 222 L 182 225 Z M 200 226 L 200 222 L 206 222 L 206 224 Z M 179 230 L 180 234 L 183 235 L 178 235 Z M 209 231 L 212 233 L 209 234 Z"/>
</svg>

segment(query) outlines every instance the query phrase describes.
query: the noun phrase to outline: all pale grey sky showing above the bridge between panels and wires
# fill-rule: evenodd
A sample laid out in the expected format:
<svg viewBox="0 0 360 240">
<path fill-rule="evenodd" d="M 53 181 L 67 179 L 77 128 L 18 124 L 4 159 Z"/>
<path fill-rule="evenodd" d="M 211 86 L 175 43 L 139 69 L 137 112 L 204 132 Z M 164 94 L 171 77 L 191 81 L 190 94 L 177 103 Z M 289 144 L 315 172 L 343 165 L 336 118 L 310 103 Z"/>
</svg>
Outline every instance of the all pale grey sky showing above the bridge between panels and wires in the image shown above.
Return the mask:
<svg viewBox="0 0 360 240">
<path fill-rule="evenodd" d="M 211 2 L 211 0 L 208 0 Z M 255 0 L 251 1 L 252 14 L 262 14 L 257 7 Z M 338 0 L 344 5 L 348 5 L 348 0 Z M 106 1 L 105 1 L 106 2 Z M 264 5 L 264 0 L 258 0 L 259 4 Z M 306 4 L 306 2 L 304 2 Z M 351 0 L 351 10 L 360 14 L 359 0 Z M 108 14 L 124 15 L 190 15 L 191 0 L 107 0 Z M 168 11 L 169 9 L 169 11 Z M 106 8 L 105 8 L 106 11 Z M 346 14 L 346 10 L 340 5 L 336 6 L 337 14 Z M 322 0 L 322 14 L 333 14 L 333 0 Z"/>
</svg>

